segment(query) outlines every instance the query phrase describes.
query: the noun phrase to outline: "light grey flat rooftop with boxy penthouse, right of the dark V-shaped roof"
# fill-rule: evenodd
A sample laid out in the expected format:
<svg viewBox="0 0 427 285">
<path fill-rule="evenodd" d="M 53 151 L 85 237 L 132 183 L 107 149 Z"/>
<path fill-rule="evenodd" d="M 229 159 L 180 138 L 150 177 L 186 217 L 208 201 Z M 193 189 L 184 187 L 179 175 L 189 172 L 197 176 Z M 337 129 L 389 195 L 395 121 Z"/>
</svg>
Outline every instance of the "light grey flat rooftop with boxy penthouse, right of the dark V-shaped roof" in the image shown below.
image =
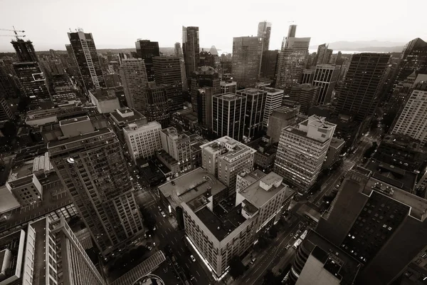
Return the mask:
<svg viewBox="0 0 427 285">
<path fill-rule="evenodd" d="M 268 175 L 261 177 L 258 182 L 255 182 L 252 185 L 249 185 L 245 189 L 241 190 L 239 194 L 245 197 L 248 202 L 250 202 L 251 204 L 253 204 L 253 206 L 259 209 L 260 207 L 263 207 L 263 204 L 268 202 L 284 188 L 286 188 L 285 195 L 287 197 L 290 197 L 290 195 L 294 193 L 294 191 L 290 189 L 290 187 L 283 183 L 280 183 L 278 187 L 275 187 L 275 185 L 273 185 L 273 183 L 277 183 L 280 181 L 283 181 L 283 177 L 281 177 L 275 172 L 270 172 L 268 173 Z M 260 187 L 260 182 L 263 182 L 267 185 L 271 185 L 270 189 L 265 190 L 263 187 Z"/>
</svg>

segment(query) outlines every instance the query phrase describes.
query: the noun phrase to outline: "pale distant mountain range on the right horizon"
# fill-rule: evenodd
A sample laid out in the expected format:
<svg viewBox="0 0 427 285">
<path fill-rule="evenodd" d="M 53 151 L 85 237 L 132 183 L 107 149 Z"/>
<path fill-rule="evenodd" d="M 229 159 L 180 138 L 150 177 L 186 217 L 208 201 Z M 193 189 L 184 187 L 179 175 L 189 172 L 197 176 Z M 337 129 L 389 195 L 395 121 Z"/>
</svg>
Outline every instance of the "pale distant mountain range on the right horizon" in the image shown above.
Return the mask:
<svg viewBox="0 0 427 285">
<path fill-rule="evenodd" d="M 329 43 L 329 48 L 334 51 L 377 51 L 377 52 L 401 52 L 406 43 L 393 41 L 334 41 Z M 310 46 L 316 49 L 317 46 Z"/>
</svg>

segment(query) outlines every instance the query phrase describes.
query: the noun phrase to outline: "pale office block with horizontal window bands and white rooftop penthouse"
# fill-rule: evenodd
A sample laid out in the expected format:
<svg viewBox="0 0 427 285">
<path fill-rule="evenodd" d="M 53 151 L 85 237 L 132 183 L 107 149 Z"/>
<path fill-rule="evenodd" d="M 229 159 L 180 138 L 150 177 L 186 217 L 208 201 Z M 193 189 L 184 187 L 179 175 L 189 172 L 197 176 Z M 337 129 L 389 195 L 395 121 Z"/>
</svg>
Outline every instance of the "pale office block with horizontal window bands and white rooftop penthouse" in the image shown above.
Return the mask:
<svg viewBox="0 0 427 285">
<path fill-rule="evenodd" d="M 283 128 L 274 172 L 298 190 L 309 190 L 322 169 L 335 127 L 325 118 L 312 115 L 297 127 Z"/>
</svg>

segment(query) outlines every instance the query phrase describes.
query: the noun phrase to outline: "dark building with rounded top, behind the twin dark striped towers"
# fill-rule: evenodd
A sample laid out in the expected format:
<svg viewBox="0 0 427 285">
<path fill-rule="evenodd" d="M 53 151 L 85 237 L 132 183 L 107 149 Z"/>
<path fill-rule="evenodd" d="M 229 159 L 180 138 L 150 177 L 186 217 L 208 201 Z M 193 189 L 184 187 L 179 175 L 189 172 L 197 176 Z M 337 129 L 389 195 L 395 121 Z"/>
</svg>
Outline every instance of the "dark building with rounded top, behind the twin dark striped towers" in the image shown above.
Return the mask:
<svg viewBox="0 0 427 285">
<path fill-rule="evenodd" d="M 199 104 L 197 101 L 197 93 L 199 88 L 210 87 L 213 94 L 219 94 L 219 75 L 216 70 L 210 66 L 201 66 L 197 68 L 189 78 L 191 90 L 191 106 L 193 111 L 199 113 Z M 209 103 L 209 102 L 207 102 Z"/>
</svg>

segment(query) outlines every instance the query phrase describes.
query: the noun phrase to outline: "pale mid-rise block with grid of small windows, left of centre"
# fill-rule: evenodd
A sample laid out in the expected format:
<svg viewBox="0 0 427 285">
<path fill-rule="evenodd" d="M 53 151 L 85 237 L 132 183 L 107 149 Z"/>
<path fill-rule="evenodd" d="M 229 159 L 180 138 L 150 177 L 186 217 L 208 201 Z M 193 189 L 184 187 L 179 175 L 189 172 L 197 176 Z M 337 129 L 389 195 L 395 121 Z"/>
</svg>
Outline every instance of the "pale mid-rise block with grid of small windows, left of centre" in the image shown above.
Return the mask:
<svg viewBox="0 0 427 285">
<path fill-rule="evenodd" d="M 149 123 L 139 121 L 123 128 L 127 149 L 134 162 L 138 158 L 152 158 L 157 150 L 162 149 L 160 130 L 162 125 L 156 121 Z"/>
</svg>

